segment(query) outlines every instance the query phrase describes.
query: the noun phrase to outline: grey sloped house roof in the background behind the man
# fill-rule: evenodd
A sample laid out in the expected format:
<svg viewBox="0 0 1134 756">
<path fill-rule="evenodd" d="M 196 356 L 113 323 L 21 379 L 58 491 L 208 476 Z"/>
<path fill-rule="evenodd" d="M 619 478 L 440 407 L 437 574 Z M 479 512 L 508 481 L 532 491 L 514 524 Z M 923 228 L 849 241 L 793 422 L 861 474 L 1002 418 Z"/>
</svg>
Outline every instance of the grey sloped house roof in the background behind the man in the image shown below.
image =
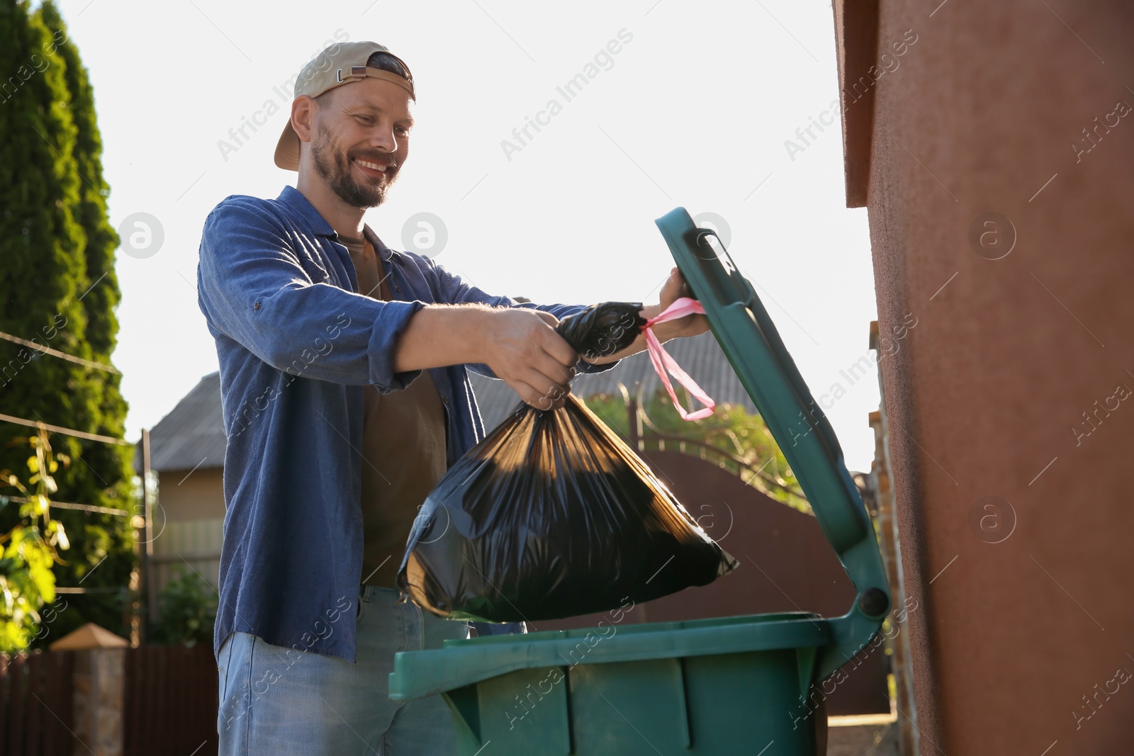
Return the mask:
<svg viewBox="0 0 1134 756">
<path fill-rule="evenodd" d="M 711 333 L 670 341 L 666 350 L 717 404 L 738 405 L 756 413 Z M 471 375 L 484 427 L 496 427 L 516 408 L 519 397 L 503 381 Z M 623 359 L 604 373 L 579 375 L 572 390 L 584 398 L 618 394 L 619 383 L 632 394 L 641 390 L 643 396 L 661 387 L 650 357 L 642 352 Z M 219 468 L 225 461 L 225 447 L 220 373 L 210 373 L 150 430 L 150 467 L 158 472 Z M 135 449 L 134 468 L 142 469 L 141 444 Z"/>
</svg>

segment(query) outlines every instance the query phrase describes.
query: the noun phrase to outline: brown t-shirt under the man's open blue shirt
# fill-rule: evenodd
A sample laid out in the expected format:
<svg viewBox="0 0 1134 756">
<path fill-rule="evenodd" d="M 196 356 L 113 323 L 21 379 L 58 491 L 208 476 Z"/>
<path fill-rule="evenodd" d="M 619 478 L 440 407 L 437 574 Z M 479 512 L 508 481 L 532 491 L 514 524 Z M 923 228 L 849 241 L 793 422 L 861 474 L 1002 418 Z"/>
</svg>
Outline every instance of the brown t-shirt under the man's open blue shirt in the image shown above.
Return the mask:
<svg viewBox="0 0 1134 756">
<path fill-rule="evenodd" d="M 354 262 L 359 294 L 391 299 L 381 258 L 365 237 L 339 235 Z M 387 275 L 387 278 L 383 278 Z M 362 435 L 362 579 L 395 587 L 414 518 L 446 470 L 446 418 L 429 371 L 401 391 L 365 387 Z"/>
</svg>

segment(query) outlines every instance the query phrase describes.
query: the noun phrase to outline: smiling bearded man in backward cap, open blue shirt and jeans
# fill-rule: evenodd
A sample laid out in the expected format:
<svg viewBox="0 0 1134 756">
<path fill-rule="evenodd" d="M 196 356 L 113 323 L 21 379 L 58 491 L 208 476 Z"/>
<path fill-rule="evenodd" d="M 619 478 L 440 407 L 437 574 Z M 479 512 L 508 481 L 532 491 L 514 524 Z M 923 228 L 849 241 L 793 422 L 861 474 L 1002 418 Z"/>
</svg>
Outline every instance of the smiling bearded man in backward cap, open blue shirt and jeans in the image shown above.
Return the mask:
<svg viewBox="0 0 1134 756">
<path fill-rule="evenodd" d="M 467 637 L 393 588 L 417 509 L 483 435 L 466 368 L 545 409 L 575 371 L 644 348 L 640 335 L 582 360 L 553 329 L 581 306 L 489 296 L 363 223 L 405 165 L 413 103 L 384 46 L 328 48 L 301 73 L 276 151 L 297 186 L 227 197 L 204 224 L 198 300 L 228 435 L 221 754 L 451 753 L 440 697 L 390 702 L 387 676 L 399 651 Z M 643 314 L 683 292 L 675 269 Z M 702 316 L 657 329 L 704 330 Z"/>
</svg>

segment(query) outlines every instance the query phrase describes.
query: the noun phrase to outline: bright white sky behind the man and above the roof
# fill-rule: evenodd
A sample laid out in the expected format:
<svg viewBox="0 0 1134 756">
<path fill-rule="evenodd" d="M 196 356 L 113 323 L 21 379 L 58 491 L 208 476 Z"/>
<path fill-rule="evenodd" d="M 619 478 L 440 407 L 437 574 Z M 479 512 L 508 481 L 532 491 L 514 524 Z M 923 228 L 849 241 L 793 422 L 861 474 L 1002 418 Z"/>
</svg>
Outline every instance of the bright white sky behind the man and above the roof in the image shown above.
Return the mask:
<svg viewBox="0 0 1134 756">
<path fill-rule="evenodd" d="M 877 380 L 840 375 L 870 355 L 877 316 L 866 214 L 845 206 L 837 124 L 794 161 L 784 144 L 838 96 L 828 3 L 60 5 L 94 85 L 111 222 L 146 212 L 164 229 L 155 255 L 118 254 L 128 438 L 217 369 L 196 298 L 202 223 L 228 195 L 294 185 L 272 162 L 291 92 L 273 87 L 338 33 L 386 44 L 417 83 L 411 158 L 366 218 L 387 244 L 405 248 L 406 219 L 431 212 L 449 232 L 438 261 L 492 294 L 655 300 L 672 262 L 653 220 L 717 213 L 812 392 L 847 390 L 828 415 L 848 466 L 869 469 Z M 613 66 L 566 102 L 556 86 L 620 29 L 633 40 Z M 562 112 L 509 161 L 501 141 L 552 97 Z M 218 141 L 269 100 L 279 112 L 225 160 Z"/>
</svg>

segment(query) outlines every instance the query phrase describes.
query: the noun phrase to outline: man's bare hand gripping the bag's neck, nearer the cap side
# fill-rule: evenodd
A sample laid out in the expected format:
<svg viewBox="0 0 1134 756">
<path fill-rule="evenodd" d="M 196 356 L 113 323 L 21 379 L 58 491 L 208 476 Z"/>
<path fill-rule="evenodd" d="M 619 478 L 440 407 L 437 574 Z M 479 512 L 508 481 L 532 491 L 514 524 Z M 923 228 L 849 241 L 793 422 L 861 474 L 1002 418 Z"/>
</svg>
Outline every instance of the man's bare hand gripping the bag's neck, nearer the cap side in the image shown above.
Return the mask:
<svg viewBox="0 0 1134 756">
<path fill-rule="evenodd" d="M 484 364 L 519 398 L 539 409 L 558 409 L 570 392 L 578 355 L 555 326 L 551 313 L 501 308 L 485 313 Z"/>
</svg>

